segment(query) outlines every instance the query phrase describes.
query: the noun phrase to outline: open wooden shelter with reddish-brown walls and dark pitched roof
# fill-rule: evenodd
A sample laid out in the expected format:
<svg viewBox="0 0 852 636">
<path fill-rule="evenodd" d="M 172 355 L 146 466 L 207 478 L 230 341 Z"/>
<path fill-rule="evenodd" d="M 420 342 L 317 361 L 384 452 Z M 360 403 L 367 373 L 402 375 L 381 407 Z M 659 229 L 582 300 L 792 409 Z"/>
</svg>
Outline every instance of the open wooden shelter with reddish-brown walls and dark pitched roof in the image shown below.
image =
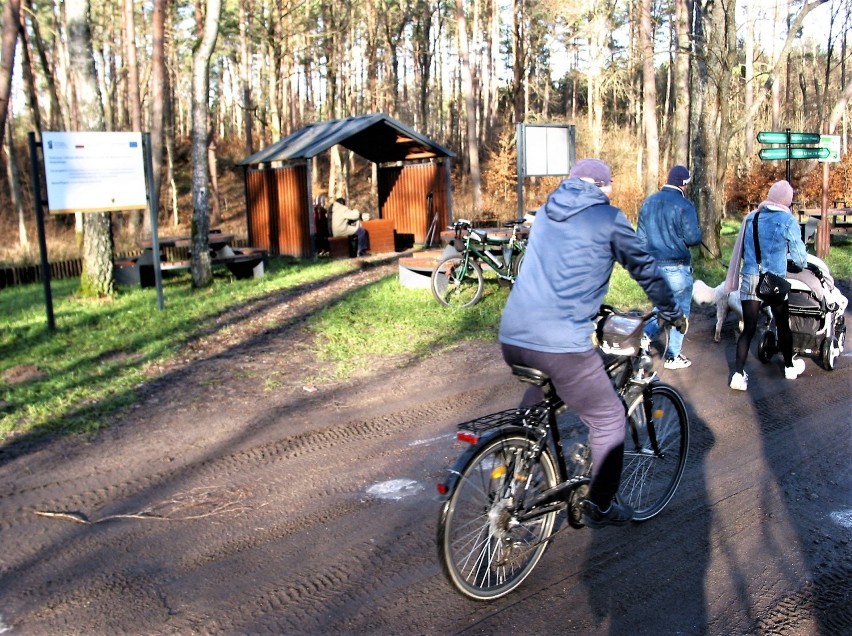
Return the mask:
<svg viewBox="0 0 852 636">
<path fill-rule="evenodd" d="M 271 254 L 317 252 L 311 159 L 340 144 L 378 166 L 379 218 L 424 243 L 452 222 L 450 161 L 455 153 L 388 115 L 318 122 L 238 162 L 245 167 L 248 240 Z"/>
</svg>

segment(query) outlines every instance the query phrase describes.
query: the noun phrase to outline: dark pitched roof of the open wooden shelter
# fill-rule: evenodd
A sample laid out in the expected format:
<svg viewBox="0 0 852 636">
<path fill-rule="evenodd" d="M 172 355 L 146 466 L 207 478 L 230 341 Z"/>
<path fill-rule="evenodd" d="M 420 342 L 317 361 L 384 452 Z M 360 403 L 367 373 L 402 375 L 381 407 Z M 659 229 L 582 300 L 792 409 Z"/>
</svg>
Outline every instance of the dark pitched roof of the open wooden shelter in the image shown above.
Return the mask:
<svg viewBox="0 0 852 636">
<path fill-rule="evenodd" d="M 456 156 L 392 117 L 373 113 L 309 124 L 238 163 L 310 159 L 336 144 L 374 163 Z"/>
</svg>

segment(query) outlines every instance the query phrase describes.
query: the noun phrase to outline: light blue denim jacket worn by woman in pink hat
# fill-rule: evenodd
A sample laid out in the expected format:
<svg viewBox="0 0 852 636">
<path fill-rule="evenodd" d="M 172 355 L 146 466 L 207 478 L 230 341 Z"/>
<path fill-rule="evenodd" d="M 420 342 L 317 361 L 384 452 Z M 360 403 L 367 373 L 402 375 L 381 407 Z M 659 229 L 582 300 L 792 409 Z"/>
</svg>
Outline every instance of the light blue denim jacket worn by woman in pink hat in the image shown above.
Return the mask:
<svg viewBox="0 0 852 636">
<path fill-rule="evenodd" d="M 779 276 L 787 275 L 787 260 L 799 267 L 807 264 L 807 252 L 802 243 L 799 224 L 786 209 L 766 205 L 751 212 L 743 221 L 743 274 L 759 274 L 757 257 L 754 253 L 754 215 L 760 212 L 758 235 L 760 238 L 761 271 L 772 272 Z"/>
</svg>

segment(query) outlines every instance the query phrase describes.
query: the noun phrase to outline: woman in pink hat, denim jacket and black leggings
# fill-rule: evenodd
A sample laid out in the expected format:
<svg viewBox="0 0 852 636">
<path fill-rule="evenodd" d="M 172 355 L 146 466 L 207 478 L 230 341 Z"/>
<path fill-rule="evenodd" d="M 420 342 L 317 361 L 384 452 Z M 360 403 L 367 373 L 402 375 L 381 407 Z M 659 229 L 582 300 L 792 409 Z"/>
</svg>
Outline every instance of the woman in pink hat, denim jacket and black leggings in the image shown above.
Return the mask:
<svg viewBox="0 0 852 636">
<path fill-rule="evenodd" d="M 807 263 L 805 244 L 802 242 L 801 231 L 796 219 L 790 212 L 793 202 L 793 187 L 784 180 L 775 182 L 766 196 L 766 201 L 757 206 L 743 221 L 740 239 L 737 243 L 742 252 L 742 273 L 740 276 L 740 299 L 743 304 L 743 332 L 737 340 L 737 361 L 735 373 L 731 378 L 731 388 L 745 391 L 748 388 L 748 374 L 745 372 L 745 362 L 751 340 L 757 329 L 757 318 L 760 314 L 762 301 L 757 297 L 757 282 L 761 271 L 772 272 L 779 276 L 787 276 L 787 261 L 790 260 L 799 267 Z M 754 250 L 754 217 L 760 212 L 758 219 L 758 236 L 760 238 L 760 266 Z M 731 262 L 739 261 L 737 247 Z M 778 348 L 784 357 L 784 377 L 795 380 L 804 370 L 805 361 L 793 358 L 793 336 L 790 332 L 789 305 L 785 299 L 772 307 L 772 315 L 778 332 Z"/>
</svg>

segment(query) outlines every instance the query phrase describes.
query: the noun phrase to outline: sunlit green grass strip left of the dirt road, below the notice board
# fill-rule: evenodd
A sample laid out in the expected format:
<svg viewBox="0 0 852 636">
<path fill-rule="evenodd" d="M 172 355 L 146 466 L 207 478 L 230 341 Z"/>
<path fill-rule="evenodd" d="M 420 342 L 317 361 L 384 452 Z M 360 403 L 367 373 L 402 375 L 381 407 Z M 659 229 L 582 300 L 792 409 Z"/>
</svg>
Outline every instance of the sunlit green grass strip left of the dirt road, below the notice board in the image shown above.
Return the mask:
<svg viewBox="0 0 852 636">
<path fill-rule="evenodd" d="M 86 432 L 136 399 L 146 369 L 180 355 L 183 345 L 215 328 L 230 307 L 271 292 L 343 275 L 354 261 L 271 259 L 263 278 L 217 273 L 193 290 L 190 275 L 164 280 L 165 311 L 156 290 L 122 288 L 110 300 L 77 297 L 78 280 L 51 284 L 56 331 L 47 330 L 41 284 L 0 293 L 0 440 L 23 434 Z"/>
</svg>

